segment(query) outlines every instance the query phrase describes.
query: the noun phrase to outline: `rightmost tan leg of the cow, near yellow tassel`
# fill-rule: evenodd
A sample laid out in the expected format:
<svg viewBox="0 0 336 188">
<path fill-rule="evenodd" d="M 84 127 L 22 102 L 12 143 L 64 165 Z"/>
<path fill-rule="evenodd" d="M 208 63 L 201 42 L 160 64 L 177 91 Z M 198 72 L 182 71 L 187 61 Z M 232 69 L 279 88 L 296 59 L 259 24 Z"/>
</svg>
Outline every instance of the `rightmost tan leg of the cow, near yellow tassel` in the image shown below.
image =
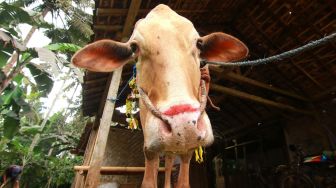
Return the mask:
<svg viewBox="0 0 336 188">
<path fill-rule="evenodd" d="M 179 173 L 176 188 L 190 188 L 189 165 L 190 165 L 190 159 L 192 155 L 193 155 L 193 152 L 188 152 L 187 154 L 180 155 L 181 157 L 180 173 Z"/>
</svg>

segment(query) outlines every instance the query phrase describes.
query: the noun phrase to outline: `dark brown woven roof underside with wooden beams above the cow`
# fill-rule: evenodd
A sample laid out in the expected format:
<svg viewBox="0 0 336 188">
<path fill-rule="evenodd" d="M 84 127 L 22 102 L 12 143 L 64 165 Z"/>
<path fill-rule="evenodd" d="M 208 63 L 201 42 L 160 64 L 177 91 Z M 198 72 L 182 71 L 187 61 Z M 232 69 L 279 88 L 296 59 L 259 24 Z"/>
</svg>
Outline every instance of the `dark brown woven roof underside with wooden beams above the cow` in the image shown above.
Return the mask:
<svg viewBox="0 0 336 188">
<path fill-rule="evenodd" d="M 225 3 L 216 0 L 96 0 L 94 40 L 120 40 L 125 35 L 125 27 L 132 27 L 134 21 L 143 18 L 159 3 L 167 4 L 191 20 L 200 35 L 222 31 L 236 36 L 249 47 L 248 59 L 279 54 L 336 29 L 336 3 L 331 0 L 227 0 Z M 135 20 L 127 22 L 132 15 Z M 276 64 L 212 69 L 210 96 L 222 109 L 220 112 L 207 110 L 215 133 L 232 135 L 251 125 L 286 117 L 291 113 L 285 112 L 292 112 L 291 108 L 294 108 L 293 114 L 304 115 L 295 109 L 307 112 L 311 104 L 332 100 L 336 90 L 335 61 L 333 41 Z M 131 74 L 132 65 L 127 65 L 120 89 Z M 110 78 L 108 73 L 86 72 L 82 107 L 85 116 L 100 117 Z M 128 92 L 126 89 L 116 106 L 124 104 Z M 260 98 L 266 101 L 258 102 Z M 288 106 L 281 108 L 278 103 Z M 120 113 L 114 115 L 115 121 L 124 119 Z"/>
</svg>

